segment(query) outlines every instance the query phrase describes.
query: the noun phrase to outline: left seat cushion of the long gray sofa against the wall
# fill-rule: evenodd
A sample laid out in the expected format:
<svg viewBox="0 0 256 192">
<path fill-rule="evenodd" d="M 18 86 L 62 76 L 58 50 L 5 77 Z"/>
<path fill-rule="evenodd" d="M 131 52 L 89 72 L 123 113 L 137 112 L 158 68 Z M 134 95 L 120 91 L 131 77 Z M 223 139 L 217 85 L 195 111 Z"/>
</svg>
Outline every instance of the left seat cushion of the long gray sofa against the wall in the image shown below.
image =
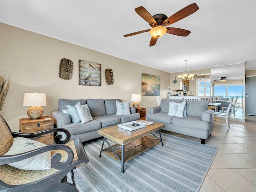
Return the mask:
<svg viewBox="0 0 256 192">
<path fill-rule="evenodd" d="M 67 129 L 71 135 L 75 135 L 99 130 L 101 128 L 101 122 L 97 120 L 91 120 L 85 124 L 82 124 L 82 122 L 70 123 L 69 125 L 64 125 L 63 128 Z"/>
</svg>

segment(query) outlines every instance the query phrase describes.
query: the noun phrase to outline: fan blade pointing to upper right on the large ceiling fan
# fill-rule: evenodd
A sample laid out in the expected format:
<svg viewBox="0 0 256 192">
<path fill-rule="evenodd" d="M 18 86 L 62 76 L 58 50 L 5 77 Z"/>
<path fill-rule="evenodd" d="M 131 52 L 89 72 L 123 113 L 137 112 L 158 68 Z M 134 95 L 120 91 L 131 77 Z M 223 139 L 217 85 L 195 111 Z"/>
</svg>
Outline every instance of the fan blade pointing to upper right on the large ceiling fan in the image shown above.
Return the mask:
<svg viewBox="0 0 256 192">
<path fill-rule="evenodd" d="M 178 12 L 176 12 L 175 14 L 173 14 L 172 16 L 170 16 L 169 18 L 167 18 L 163 24 L 164 25 L 170 25 L 173 24 L 179 20 L 184 19 L 185 17 L 191 15 L 192 13 L 196 12 L 199 9 L 199 7 L 197 6 L 196 3 L 190 4 L 186 7 L 184 7 L 183 9 L 179 10 Z"/>
</svg>

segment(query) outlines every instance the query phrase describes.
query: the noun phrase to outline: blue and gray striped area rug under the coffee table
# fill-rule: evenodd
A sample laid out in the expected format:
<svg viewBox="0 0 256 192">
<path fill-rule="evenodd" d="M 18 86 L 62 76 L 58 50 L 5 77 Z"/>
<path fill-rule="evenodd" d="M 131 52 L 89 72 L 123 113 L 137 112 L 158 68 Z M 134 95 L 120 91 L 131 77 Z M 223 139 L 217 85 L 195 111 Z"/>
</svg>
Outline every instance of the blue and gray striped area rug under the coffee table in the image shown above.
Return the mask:
<svg viewBox="0 0 256 192">
<path fill-rule="evenodd" d="M 121 165 L 102 153 L 103 138 L 84 144 L 89 158 L 74 170 L 80 192 L 195 192 L 218 148 L 162 133 L 161 143 Z M 70 176 L 68 174 L 68 181 Z"/>
</svg>

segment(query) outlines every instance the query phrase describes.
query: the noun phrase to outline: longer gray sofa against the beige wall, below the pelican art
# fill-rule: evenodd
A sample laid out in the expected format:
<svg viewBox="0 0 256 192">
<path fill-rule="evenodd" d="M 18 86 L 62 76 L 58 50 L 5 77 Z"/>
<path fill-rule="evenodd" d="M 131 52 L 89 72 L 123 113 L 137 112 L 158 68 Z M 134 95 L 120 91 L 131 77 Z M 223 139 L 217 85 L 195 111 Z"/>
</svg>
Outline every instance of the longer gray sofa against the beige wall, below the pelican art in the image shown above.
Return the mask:
<svg viewBox="0 0 256 192">
<path fill-rule="evenodd" d="M 52 111 L 54 127 L 67 129 L 71 134 L 70 140 L 80 138 L 82 142 L 85 142 L 101 137 L 98 135 L 98 130 L 101 128 L 140 119 L 140 114 L 136 113 L 134 107 L 130 107 L 131 114 L 116 115 L 116 101 L 122 102 L 120 99 L 59 99 L 58 110 Z M 88 105 L 93 120 L 84 124 L 82 122 L 73 123 L 70 116 L 62 112 L 67 109 L 66 105 L 75 106 L 77 102 L 80 102 L 81 105 Z"/>
</svg>

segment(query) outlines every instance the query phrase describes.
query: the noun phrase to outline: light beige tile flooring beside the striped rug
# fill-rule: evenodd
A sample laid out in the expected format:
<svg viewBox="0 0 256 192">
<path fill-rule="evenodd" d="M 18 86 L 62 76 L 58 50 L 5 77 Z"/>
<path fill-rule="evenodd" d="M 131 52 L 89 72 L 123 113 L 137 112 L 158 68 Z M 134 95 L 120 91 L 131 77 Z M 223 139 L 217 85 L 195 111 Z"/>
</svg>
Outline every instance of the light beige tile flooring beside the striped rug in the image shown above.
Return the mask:
<svg viewBox="0 0 256 192">
<path fill-rule="evenodd" d="M 246 116 L 245 122 L 230 121 L 230 130 L 220 123 L 214 121 L 212 135 L 206 140 L 218 152 L 199 192 L 256 192 L 256 116 Z"/>
</svg>

